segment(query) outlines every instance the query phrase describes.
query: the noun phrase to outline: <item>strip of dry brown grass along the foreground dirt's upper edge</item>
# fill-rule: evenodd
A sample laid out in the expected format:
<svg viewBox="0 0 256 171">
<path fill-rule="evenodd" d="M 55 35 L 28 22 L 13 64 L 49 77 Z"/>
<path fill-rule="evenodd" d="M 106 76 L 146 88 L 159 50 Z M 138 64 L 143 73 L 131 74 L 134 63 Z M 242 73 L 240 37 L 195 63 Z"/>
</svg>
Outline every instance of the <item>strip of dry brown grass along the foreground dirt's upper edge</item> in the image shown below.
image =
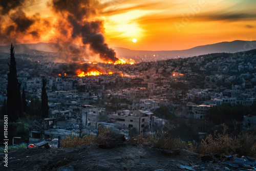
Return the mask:
<svg viewBox="0 0 256 171">
<path fill-rule="evenodd" d="M 221 134 L 214 133 L 214 135 L 207 135 L 200 144 L 193 142 L 186 143 L 180 138 L 172 138 L 170 134 L 162 132 L 160 137 L 155 137 L 153 134 L 141 134 L 137 137 L 130 139 L 130 143 L 134 144 L 148 144 L 154 148 L 159 149 L 189 149 L 192 152 L 199 154 L 225 154 L 239 156 L 250 156 L 256 158 L 256 130 L 244 131 L 238 136 L 232 136 L 227 134 L 228 127 L 222 124 L 223 132 Z M 63 148 L 75 148 L 83 144 L 98 143 L 118 144 L 122 141 L 123 135 L 114 133 L 112 127 L 103 126 L 99 127 L 99 135 L 93 134 L 86 135 L 79 138 L 77 135 L 70 134 L 65 139 L 61 140 L 61 147 Z"/>
</svg>

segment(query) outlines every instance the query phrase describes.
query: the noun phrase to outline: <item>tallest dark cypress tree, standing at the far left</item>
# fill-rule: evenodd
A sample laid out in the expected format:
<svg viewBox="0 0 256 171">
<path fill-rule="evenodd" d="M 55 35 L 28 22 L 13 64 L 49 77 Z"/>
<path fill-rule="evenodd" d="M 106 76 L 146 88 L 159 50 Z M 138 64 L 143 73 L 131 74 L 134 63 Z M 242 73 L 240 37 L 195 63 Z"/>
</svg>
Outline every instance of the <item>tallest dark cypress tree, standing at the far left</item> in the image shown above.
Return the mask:
<svg viewBox="0 0 256 171">
<path fill-rule="evenodd" d="M 14 47 L 11 44 L 11 60 L 9 65 L 8 84 L 7 84 L 7 114 L 12 122 L 23 117 L 22 98 L 20 96 L 20 85 L 17 79 L 16 61 L 14 57 Z"/>
</svg>

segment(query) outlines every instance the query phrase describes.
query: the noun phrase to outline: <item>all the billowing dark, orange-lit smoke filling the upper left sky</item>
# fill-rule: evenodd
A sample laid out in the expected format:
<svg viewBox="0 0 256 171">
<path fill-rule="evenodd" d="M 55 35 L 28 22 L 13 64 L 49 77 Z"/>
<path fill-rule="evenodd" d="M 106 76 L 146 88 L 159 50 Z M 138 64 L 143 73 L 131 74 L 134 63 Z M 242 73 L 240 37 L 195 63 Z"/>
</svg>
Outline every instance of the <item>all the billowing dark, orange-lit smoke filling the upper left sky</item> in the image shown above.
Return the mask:
<svg viewBox="0 0 256 171">
<path fill-rule="evenodd" d="M 115 51 L 105 43 L 102 21 L 94 19 L 98 11 L 105 8 L 104 5 L 96 0 L 52 0 L 48 3 L 48 7 L 54 16 L 43 18 L 38 13 L 33 16 L 25 13 L 26 8 L 33 3 L 33 0 L 0 2 L 2 45 L 9 45 L 11 42 L 18 44 L 40 41 L 54 29 L 54 36 L 48 41 L 58 43 L 55 48 L 65 52 L 59 53 L 58 57 L 63 57 L 65 61 L 82 61 L 84 57 L 87 58 L 92 54 L 99 55 L 103 61 L 118 60 Z M 52 23 L 53 18 L 55 18 L 54 23 Z M 82 44 L 70 46 L 77 45 L 78 42 Z M 80 57 L 72 58 L 71 54 Z"/>
</svg>

